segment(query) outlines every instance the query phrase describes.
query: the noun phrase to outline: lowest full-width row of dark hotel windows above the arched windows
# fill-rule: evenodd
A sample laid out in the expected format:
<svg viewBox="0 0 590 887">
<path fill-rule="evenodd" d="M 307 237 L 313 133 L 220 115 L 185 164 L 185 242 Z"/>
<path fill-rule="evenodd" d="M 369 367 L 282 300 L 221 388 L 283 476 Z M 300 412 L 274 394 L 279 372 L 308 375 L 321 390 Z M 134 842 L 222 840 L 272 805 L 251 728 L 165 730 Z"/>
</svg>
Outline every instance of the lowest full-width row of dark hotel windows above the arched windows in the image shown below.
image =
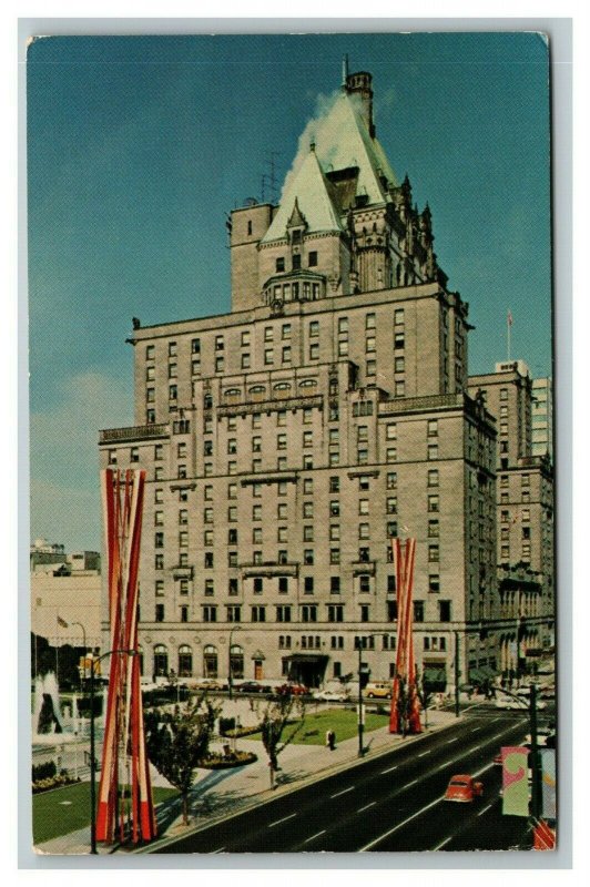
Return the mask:
<svg viewBox="0 0 590 887">
<path fill-rule="evenodd" d="M 397 621 L 397 603 L 396 601 L 387 601 L 387 621 L 395 622 Z M 181 610 L 181 622 L 186 622 L 189 619 L 189 606 L 182 605 Z M 217 604 L 203 604 L 201 606 L 201 621 L 202 622 L 217 622 L 217 614 L 221 608 Z M 226 610 L 226 622 L 242 622 L 242 610 L 241 605 L 227 605 Z M 266 615 L 269 611 L 269 606 L 266 604 L 253 604 L 250 608 L 250 621 L 251 622 L 266 622 Z M 369 604 L 359 604 L 358 606 L 358 621 L 359 622 L 370 622 L 370 606 Z M 186 618 L 182 618 L 185 614 Z M 293 621 L 293 615 L 295 614 L 295 608 L 291 606 L 289 604 L 277 604 L 275 605 L 275 622 L 278 623 L 288 623 Z M 312 604 L 299 604 L 299 622 L 309 623 L 309 622 L 319 622 L 319 605 L 312 603 Z M 155 604 L 155 614 L 154 614 L 155 622 L 165 622 L 165 605 L 163 603 Z M 344 606 L 340 604 L 327 604 L 326 608 L 326 622 L 344 622 Z M 356 621 L 356 620 L 355 620 Z M 425 601 L 414 601 L 414 621 L 415 622 L 424 622 L 425 621 Z M 451 602 L 450 601 L 438 601 L 438 622 L 450 622 L 451 621 Z M 430 639 L 429 639 L 430 640 Z M 369 641 L 370 646 L 370 641 Z M 427 649 L 427 648 L 425 648 Z M 434 649 L 434 648 L 433 648 Z M 442 648 L 441 648 L 442 649 Z"/>
</svg>

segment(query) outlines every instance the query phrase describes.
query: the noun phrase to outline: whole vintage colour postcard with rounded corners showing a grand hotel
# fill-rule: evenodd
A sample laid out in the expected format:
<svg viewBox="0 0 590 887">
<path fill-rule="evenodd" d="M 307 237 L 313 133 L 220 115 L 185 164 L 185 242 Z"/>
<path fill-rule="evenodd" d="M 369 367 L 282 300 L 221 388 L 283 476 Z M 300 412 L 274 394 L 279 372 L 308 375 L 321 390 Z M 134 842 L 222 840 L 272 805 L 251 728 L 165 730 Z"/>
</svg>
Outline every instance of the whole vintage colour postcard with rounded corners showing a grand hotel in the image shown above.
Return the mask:
<svg viewBox="0 0 590 887">
<path fill-rule="evenodd" d="M 35 853 L 556 848 L 549 50 L 31 38 Z"/>
</svg>

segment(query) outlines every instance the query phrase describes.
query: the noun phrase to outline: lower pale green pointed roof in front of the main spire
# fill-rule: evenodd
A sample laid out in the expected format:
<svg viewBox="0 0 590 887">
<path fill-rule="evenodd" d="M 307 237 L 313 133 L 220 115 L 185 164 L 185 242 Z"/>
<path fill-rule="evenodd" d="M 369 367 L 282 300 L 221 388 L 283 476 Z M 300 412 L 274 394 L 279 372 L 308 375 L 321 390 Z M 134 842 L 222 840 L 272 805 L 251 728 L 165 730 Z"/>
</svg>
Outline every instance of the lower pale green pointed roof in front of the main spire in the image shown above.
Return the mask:
<svg viewBox="0 0 590 887">
<path fill-rule="evenodd" d="M 284 237 L 293 214 L 297 211 L 305 218 L 307 233 L 343 230 L 329 196 L 329 185 L 314 150 L 307 153 L 296 175 L 286 186 L 278 211 L 262 243 Z"/>
</svg>

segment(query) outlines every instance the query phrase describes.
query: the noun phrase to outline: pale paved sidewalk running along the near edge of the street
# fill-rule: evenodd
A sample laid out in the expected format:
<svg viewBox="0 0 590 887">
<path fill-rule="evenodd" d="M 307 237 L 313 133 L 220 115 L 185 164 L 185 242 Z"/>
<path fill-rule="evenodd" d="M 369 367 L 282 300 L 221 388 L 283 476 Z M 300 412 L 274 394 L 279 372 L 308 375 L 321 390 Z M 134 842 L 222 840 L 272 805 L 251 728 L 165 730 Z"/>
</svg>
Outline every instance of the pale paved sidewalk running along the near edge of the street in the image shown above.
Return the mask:
<svg viewBox="0 0 590 887">
<path fill-rule="evenodd" d="M 278 758 L 279 772 L 276 774 L 276 788 L 271 789 L 268 774 L 268 758 L 262 742 L 248 740 L 237 741 L 242 751 L 252 751 L 257 755 L 254 764 L 227 771 L 197 771 L 195 784 L 191 791 L 191 824 L 182 824 L 180 798 L 171 798 L 156 808 L 157 842 L 152 842 L 154 848 L 160 839 L 174 838 L 190 834 L 199 828 L 207 827 L 220 819 L 243 812 L 248 807 L 263 804 L 278 795 L 301 788 L 313 782 L 316 777 L 327 776 L 330 772 L 355 766 L 360 761 L 385 753 L 401 744 L 420 741 L 420 737 L 430 735 L 449 724 L 456 723 L 451 712 L 428 711 L 428 730 L 419 736 L 391 735 L 388 727 L 365 733 L 365 755 L 358 757 L 358 738 L 355 736 L 337 743 L 330 752 L 324 745 L 287 745 Z M 153 785 L 167 785 L 167 783 L 153 768 Z M 90 849 L 90 827 L 82 828 L 69 835 L 54 838 L 38 845 L 37 853 L 55 855 L 88 854 Z M 99 853 L 109 855 L 115 852 L 142 853 L 145 848 L 104 847 L 99 845 Z"/>
</svg>

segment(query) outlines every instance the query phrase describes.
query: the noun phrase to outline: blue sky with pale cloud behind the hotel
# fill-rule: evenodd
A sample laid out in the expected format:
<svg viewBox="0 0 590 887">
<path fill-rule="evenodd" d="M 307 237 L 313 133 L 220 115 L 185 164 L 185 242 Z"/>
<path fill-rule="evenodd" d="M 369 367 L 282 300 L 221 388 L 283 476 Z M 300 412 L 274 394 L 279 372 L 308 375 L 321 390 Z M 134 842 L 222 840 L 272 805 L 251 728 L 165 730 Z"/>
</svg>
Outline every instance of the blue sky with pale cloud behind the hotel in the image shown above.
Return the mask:
<svg viewBox="0 0 590 887">
<path fill-rule="evenodd" d="M 225 214 L 278 186 L 342 57 L 433 211 L 471 373 L 551 367 L 548 59 L 537 34 L 39 40 L 28 57 L 31 537 L 100 548 L 99 428 L 133 421 L 131 317 L 230 308 Z M 276 152 L 276 153 L 273 153 Z M 268 192 L 266 193 L 268 197 Z"/>
</svg>

